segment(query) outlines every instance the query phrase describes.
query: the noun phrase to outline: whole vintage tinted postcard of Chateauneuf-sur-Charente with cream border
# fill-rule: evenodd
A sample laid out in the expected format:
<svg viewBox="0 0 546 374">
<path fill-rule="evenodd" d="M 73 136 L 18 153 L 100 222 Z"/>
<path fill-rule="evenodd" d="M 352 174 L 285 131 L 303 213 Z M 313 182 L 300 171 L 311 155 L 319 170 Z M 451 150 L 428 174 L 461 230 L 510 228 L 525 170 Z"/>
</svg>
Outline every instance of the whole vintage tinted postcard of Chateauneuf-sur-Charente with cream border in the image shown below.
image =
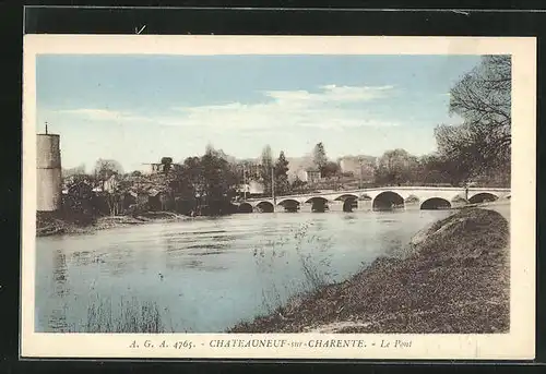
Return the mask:
<svg viewBox="0 0 546 374">
<path fill-rule="evenodd" d="M 23 86 L 23 358 L 534 358 L 535 38 L 25 35 Z"/>
</svg>

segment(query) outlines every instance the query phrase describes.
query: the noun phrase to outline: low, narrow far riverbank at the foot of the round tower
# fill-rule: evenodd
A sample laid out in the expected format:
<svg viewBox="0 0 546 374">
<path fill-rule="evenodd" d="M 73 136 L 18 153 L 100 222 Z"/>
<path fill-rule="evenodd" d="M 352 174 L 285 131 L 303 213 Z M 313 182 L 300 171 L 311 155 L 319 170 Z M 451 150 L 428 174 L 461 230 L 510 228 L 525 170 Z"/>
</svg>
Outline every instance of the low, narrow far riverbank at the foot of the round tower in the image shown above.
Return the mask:
<svg viewBox="0 0 546 374">
<path fill-rule="evenodd" d="M 156 221 L 175 221 L 190 219 L 170 212 L 150 212 L 139 216 L 105 216 L 98 217 L 88 225 L 76 225 L 55 216 L 37 216 L 36 237 L 60 234 L 81 234 L 118 227 L 143 225 Z"/>
</svg>

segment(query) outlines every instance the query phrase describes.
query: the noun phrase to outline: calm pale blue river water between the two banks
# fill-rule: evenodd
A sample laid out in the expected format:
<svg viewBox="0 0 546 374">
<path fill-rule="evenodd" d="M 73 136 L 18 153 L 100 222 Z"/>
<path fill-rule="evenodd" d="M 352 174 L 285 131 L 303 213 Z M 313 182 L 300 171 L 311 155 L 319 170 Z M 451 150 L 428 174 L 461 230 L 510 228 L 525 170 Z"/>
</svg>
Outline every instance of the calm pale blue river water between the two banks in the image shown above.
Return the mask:
<svg viewBox="0 0 546 374">
<path fill-rule="evenodd" d="M 37 238 L 36 330 L 96 331 L 90 319 L 104 328 L 105 315 L 131 304 L 155 305 L 166 331 L 219 333 L 378 256 L 402 255 L 448 214 L 239 214 Z"/>
</svg>

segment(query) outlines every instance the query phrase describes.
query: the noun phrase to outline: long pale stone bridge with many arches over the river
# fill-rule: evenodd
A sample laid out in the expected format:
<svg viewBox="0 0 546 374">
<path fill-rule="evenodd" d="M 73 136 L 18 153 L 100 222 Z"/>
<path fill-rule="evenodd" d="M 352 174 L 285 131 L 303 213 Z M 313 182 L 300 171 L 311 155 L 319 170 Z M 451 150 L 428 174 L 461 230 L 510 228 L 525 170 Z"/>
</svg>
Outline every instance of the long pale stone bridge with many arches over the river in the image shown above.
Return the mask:
<svg viewBox="0 0 546 374">
<path fill-rule="evenodd" d="M 239 204 L 239 212 L 324 212 L 332 206 L 352 212 L 359 206 L 373 209 L 418 207 L 420 209 L 451 208 L 465 204 L 510 198 L 510 189 L 496 188 L 438 188 L 438 186 L 384 186 L 351 191 L 321 191 L 317 193 L 251 198 Z"/>
</svg>

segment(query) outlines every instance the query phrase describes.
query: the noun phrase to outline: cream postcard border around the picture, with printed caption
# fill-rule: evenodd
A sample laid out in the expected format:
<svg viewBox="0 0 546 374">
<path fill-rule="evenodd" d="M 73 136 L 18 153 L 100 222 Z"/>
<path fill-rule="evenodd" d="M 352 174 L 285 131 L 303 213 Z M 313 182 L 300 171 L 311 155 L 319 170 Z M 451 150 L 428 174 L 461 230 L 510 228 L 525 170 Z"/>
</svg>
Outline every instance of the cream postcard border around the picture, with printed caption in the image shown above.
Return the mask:
<svg viewBox="0 0 546 374">
<path fill-rule="evenodd" d="M 66 55 L 512 55 L 511 328 L 495 335 L 43 334 L 34 329 L 36 56 Z M 25 358 L 533 359 L 535 350 L 536 38 L 390 36 L 25 35 L 23 50 L 22 323 Z M 217 348 L 269 339 L 283 347 Z M 311 348 L 352 339 L 352 348 Z M 411 347 L 385 348 L 396 340 Z M 162 348 L 181 342 L 180 348 Z M 188 349 L 188 343 L 192 345 Z M 268 345 L 263 340 L 264 345 Z M 293 342 L 301 346 L 293 347 Z M 305 347 L 304 343 L 307 346 Z M 153 345 L 151 347 L 150 345 Z M 335 346 L 335 343 L 333 343 Z M 139 348 L 136 348 L 139 346 Z M 147 346 L 147 347 L 146 347 Z M 363 347 L 366 346 L 366 347 Z"/>
</svg>

